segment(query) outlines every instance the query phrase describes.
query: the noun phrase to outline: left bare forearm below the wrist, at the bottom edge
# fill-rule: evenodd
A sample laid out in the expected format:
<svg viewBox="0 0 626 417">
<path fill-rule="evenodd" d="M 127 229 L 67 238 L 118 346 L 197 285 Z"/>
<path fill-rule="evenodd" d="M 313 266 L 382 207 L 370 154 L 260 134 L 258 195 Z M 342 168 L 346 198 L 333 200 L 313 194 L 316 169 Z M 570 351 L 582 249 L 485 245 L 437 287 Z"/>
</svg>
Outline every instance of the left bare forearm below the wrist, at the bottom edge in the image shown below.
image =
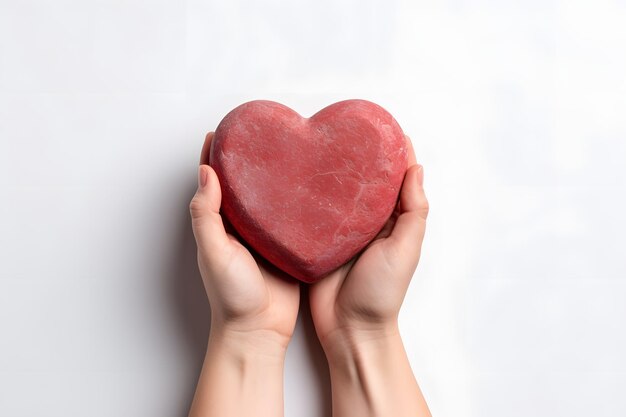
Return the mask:
<svg viewBox="0 0 626 417">
<path fill-rule="evenodd" d="M 264 336 L 211 332 L 189 417 L 283 415 L 285 351 Z"/>
</svg>

